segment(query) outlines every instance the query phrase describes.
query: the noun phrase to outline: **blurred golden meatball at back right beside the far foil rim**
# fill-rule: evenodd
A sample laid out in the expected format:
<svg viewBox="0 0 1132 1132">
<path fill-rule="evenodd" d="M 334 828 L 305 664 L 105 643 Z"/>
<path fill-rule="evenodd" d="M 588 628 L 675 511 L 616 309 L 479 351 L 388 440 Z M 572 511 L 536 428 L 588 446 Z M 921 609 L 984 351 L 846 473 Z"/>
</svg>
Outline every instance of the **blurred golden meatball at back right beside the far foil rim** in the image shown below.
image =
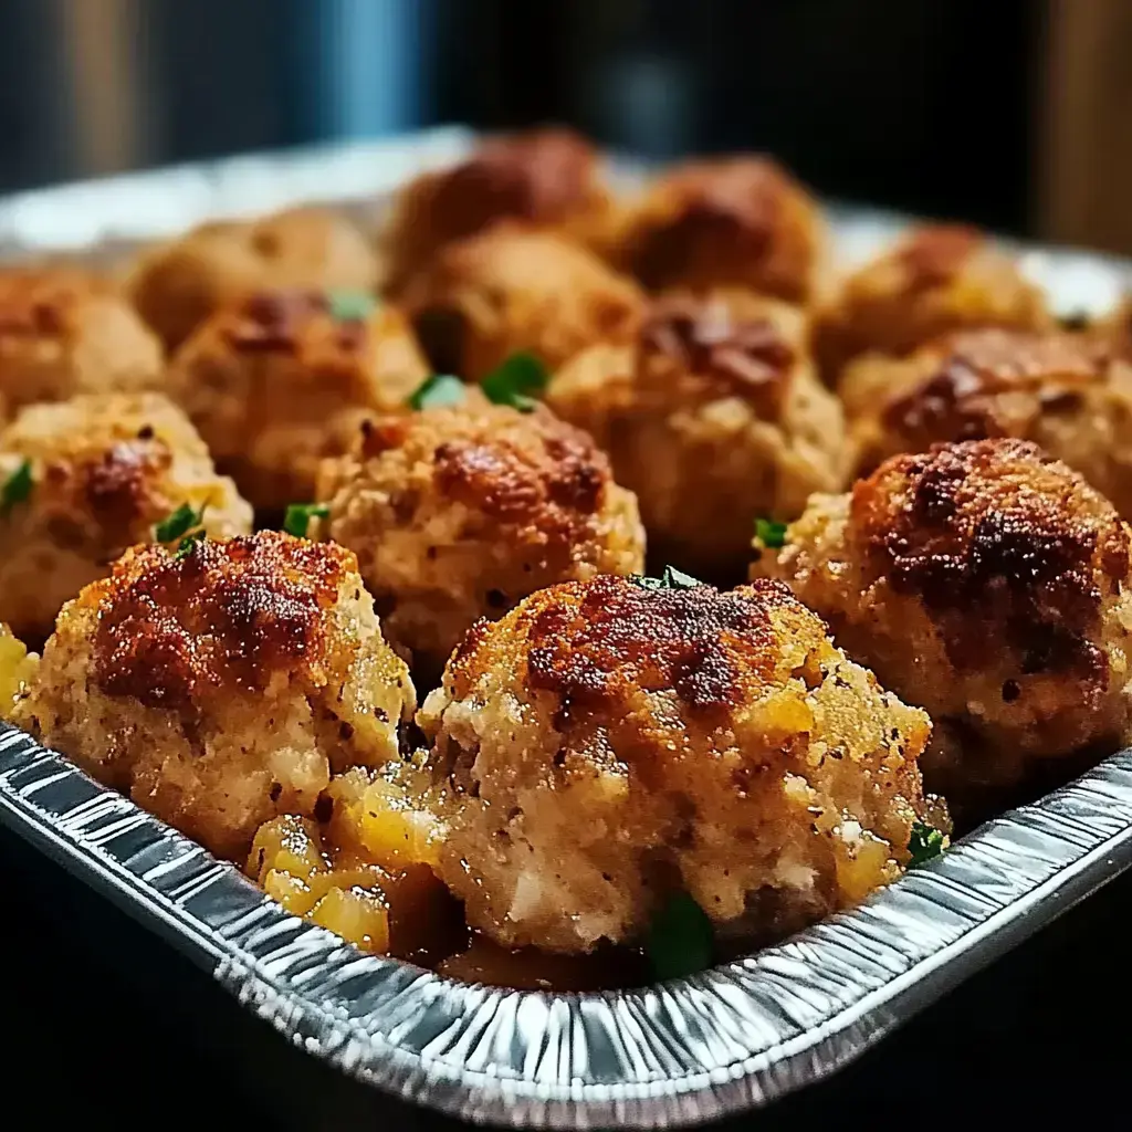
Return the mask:
<svg viewBox="0 0 1132 1132">
<path fill-rule="evenodd" d="M 932 224 L 846 278 L 814 318 L 814 353 L 829 384 L 858 354 L 902 357 L 951 331 L 1048 329 L 1041 290 L 975 229 Z"/>
</svg>

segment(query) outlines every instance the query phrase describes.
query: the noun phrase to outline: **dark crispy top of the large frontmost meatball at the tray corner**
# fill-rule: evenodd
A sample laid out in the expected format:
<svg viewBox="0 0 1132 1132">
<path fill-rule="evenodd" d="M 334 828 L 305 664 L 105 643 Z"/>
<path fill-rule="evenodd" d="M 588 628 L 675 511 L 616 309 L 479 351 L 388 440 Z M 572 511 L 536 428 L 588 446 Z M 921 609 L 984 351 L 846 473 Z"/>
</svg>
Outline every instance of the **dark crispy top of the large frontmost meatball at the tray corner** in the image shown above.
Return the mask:
<svg viewBox="0 0 1132 1132">
<path fill-rule="evenodd" d="M 779 582 L 760 580 L 720 593 L 713 586 L 646 589 L 632 578 L 601 575 L 541 590 L 505 626 L 481 623 L 449 662 L 457 696 L 490 667 L 489 638 L 520 620 L 526 681 L 560 700 L 559 722 L 572 710 L 608 710 L 637 688 L 675 692 L 693 710 L 727 707 L 770 680 L 781 657 L 771 620 L 791 609 L 800 627 L 824 637 L 825 627 Z"/>
</svg>

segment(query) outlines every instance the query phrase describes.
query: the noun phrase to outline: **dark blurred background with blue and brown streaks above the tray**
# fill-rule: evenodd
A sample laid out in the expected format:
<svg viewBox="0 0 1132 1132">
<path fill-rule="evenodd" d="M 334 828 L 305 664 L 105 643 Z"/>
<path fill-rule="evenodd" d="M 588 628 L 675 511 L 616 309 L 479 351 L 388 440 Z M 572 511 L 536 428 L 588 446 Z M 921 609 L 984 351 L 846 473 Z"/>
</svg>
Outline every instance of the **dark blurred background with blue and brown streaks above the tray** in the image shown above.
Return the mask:
<svg viewBox="0 0 1132 1132">
<path fill-rule="evenodd" d="M 1130 43 L 1123 0 L 0 0 L 0 188 L 557 120 L 1127 247 Z"/>
</svg>

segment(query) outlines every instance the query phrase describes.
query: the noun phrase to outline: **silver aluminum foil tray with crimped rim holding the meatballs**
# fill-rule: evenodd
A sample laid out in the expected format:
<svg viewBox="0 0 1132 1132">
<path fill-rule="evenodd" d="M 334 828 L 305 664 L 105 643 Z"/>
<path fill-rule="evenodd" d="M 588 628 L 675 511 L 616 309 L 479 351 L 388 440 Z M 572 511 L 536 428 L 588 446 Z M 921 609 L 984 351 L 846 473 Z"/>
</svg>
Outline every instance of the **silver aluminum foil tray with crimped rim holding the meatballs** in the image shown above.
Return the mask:
<svg viewBox="0 0 1132 1132">
<path fill-rule="evenodd" d="M 441 130 L 29 192 L 0 201 L 0 254 L 98 256 L 207 216 L 325 200 L 328 187 L 335 203 L 372 216 L 381 194 L 469 143 Z M 844 258 L 904 223 L 840 205 L 831 215 Z M 1022 254 L 1064 312 L 1103 312 L 1132 278 L 1084 252 Z M 481 1122 L 663 1127 L 825 1077 L 1129 868 L 1132 752 L 786 943 L 681 981 L 600 994 L 471 986 L 362 955 L 3 724 L 0 823 L 311 1057 L 366 1083 Z"/>
</svg>

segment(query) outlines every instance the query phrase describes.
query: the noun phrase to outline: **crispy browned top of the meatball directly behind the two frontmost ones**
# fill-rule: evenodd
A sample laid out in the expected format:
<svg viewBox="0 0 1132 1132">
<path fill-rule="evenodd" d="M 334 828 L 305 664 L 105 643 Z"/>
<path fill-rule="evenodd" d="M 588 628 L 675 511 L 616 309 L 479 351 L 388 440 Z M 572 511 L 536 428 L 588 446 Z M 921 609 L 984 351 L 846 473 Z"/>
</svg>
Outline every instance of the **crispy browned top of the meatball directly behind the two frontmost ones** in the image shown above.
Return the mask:
<svg viewBox="0 0 1132 1132">
<path fill-rule="evenodd" d="M 541 406 L 531 413 L 479 400 L 367 422 L 362 454 L 402 448 L 431 465 L 443 495 L 498 523 L 573 539 L 601 507 L 609 461 L 590 437 Z"/>
</svg>

